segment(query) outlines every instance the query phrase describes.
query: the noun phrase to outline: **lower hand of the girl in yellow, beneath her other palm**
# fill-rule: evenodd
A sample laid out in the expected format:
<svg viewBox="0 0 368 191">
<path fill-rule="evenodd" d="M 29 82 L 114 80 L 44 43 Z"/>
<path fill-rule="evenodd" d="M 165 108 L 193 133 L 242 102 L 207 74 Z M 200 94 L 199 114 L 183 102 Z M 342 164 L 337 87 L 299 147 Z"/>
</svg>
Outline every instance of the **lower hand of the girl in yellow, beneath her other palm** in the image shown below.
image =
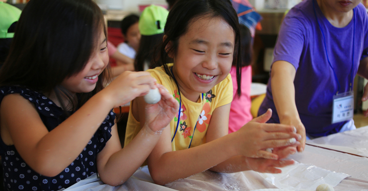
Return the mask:
<svg viewBox="0 0 368 191">
<path fill-rule="evenodd" d="M 294 164 L 293 160 L 270 160 L 265 158 L 245 158 L 249 170 L 257 171 L 260 173 L 281 173 L 280 169 L 276 167 L 285 167 L 287 165 Z"/>
</svg>

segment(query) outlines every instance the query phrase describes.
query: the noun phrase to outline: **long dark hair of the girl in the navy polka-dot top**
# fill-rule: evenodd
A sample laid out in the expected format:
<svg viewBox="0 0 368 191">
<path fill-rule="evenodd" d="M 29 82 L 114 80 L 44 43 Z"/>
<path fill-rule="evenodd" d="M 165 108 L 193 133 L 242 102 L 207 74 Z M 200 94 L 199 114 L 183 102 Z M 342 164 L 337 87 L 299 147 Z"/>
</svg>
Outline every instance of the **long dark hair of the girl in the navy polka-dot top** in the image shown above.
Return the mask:
<svg viewBox="0 0 368 191">
<path fill-rule="evenodd" d="M 76 110 L 103 88 L 108 71 L 99 75 L 92 92 L 77 94 L 78 101 L 60 84 L 85 67 L 98 46 L 101 28 L 106 35 L 102 12 L 92 0 L 29 1 L 0 70 L 0 86 L 17 85 L 42 93 L 54 91 L 64 110 L 62 96 Z"/>
</svg>

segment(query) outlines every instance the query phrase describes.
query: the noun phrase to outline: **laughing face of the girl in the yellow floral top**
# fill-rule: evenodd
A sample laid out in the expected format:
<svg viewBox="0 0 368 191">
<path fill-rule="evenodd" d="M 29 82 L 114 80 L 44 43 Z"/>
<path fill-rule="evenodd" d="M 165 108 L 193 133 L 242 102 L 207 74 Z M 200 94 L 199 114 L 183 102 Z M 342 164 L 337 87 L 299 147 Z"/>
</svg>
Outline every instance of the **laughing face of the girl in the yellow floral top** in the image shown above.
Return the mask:
<svg viewBox="0 0 368 191">
<path fill-rule="evenodd" d="M 179 38 L 174 74 L 181 91 L 205 93 L 229 74 L 235 34 L 222 18 L 200 18 Z"/>
</svg>

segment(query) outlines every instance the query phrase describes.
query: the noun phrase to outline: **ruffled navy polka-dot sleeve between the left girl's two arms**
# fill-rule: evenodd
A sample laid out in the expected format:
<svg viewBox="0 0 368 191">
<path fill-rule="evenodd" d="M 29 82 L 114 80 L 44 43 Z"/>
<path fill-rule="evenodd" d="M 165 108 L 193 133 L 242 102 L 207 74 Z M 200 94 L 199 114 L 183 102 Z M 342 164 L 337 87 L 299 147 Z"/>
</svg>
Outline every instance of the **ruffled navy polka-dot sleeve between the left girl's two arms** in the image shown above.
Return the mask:
<svg viewBox="0 0 368 191">
<path fill-rule="evenodd" d="M 116 114 L 111 110 L 96 132 L 99 143 L 97 153 L 101 152 L 107 141 L 111 138 L 111 128 L 115 124 L 115 116 Z"/>
</svg>

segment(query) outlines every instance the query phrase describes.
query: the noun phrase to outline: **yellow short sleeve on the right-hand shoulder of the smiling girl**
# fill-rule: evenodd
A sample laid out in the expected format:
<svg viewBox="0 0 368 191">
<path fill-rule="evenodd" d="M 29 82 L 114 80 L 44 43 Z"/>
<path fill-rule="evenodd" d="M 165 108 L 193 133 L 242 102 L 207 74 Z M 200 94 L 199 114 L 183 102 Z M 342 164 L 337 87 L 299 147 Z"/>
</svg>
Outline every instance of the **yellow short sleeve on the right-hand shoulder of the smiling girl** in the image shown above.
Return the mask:
<svg viewBox="0 0 368 191">
<path fill-rule="evenodd" d="M 215 108 L 231 103 L 233 101 L 233 80 L 230 73 L 215 86 L 216 96 L 218 97 Z"/>
</svg>

